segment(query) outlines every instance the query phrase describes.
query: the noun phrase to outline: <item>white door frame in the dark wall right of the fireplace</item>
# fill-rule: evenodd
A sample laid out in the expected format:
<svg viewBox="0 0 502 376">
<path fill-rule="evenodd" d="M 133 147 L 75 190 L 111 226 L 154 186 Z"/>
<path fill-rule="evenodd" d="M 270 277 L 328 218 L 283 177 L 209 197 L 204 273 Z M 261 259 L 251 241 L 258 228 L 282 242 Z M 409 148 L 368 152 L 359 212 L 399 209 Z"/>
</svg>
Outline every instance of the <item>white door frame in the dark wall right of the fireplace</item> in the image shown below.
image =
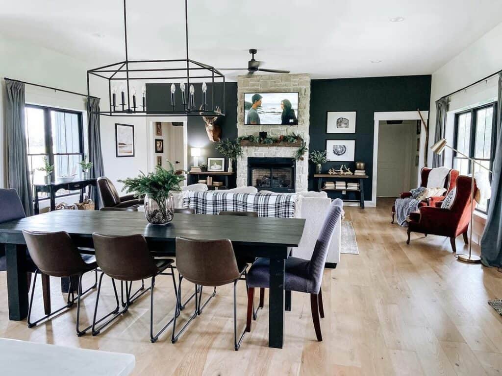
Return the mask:
<svg viewBox="0 0 502 376">
<path fill-rule="evenodd" d="M 429 111 L 421 111 L 425 121 L 429 119 Z M 371 182 L 371 201 L 367 204 L 370 207 L 376 206 L 376 173 L 378 171 L 378 141 L 379 141 L 379 122 L 385 120 L 420 120 L 418 111 L 393 111 L 393 112 L 374 112 L 373 114 L 373 171 Z M 418 170 L 423 165 L 423 153 L 425 143 L 425 134 L 420 132 L 420 150 Z M 420 172 L 419 172 L 420 173 Z M 419 179 L 420 181 L 420 179 Z"/>
</svg>

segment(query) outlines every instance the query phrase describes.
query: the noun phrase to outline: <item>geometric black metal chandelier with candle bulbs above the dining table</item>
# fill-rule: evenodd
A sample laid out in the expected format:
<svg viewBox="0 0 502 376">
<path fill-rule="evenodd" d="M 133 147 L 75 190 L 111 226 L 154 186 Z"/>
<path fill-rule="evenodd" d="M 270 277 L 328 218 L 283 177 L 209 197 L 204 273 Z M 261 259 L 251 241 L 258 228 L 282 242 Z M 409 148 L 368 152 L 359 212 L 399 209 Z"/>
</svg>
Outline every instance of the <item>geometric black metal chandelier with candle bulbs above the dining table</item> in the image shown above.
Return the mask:
<svg viewBox="0 0 502 376">
<path fill-rule="evenodd" d="M 93 112 L 106 116 L 216 116 L 225 114 L 225 76 L 216 68 L 188 57 L 188 5 L 185 0 L 186 57 L 169 60 L 129 60 L 126 0 L 123 0 L 124 43 L 126 60 L 87 71 L 87 96 L 90 97 L 90 75 L 107 80 L 109 108 Z M 101 80 L 102 79 L 102 80 Z M 193 85 L 194 80 L 202 81 Z M 192 83 L 191 83 L 192 82 Z M 147 108 L 147 87 L 163 83 L 161 106 Z M 216 84 L 216 85 L 215 85 Z M 141 85 L 141 86 L 140 86 Z M 220 90 L 215 91 L 219 85 Z M 137 90 L 137 86 L 140 86 Z M 141 90 L 141 91 L 140 91 Z M 215 97 L 215 93 L 218 96 Z M 157 96 L 159 93 L 156 92 Z M 89 99 L 89 98 L 88 98 Z M 159 98 L 156 98 L 159 100 Z M 89 103 L 89 101 L 88 101 Z M 218 111 L 217 109 L 223 111 Z M 90 109 L 89 109 L 90 111 Z"/>
</svg>

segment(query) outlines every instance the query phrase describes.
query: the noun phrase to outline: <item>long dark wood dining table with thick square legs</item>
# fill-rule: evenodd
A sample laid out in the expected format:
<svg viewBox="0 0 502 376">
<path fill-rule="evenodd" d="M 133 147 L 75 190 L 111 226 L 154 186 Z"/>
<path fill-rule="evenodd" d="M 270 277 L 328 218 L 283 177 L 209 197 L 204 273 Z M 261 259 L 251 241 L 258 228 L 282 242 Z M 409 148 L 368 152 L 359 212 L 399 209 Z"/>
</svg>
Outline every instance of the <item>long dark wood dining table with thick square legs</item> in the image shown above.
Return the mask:
<svg viewBox="0 0 502 376">
<path fill-rule="evenodd" d="M 230 239 L 235 253 L 270 258 L 269 347 L 284 344 L 284 268 L 289 247 L 300 243 L 304 219 L 176 214 L 166 226 L 149 225 L 141 212 L 60 210 L 0 224 L 0 245 L 7 256 L 9 318 L 28 315 L 26 243 L 22 230 L 66 231 L 79 247 L 93 247 L 92 233 L 143 234 L 152 252 L 176 254 L 178 236 Z"/>
</svg>

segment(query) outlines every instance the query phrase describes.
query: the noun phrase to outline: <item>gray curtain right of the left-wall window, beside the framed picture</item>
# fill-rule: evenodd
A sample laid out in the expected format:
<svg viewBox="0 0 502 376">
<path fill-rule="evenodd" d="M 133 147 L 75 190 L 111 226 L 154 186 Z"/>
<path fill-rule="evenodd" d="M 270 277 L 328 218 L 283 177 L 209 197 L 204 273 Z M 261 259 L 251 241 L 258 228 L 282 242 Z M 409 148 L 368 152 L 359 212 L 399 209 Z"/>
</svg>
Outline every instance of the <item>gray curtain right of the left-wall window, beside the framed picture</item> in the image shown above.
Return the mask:
<svg viewBox="0 0 502 376">
<path fill-rule="evenodd" d="M 91 97 L 88 103 L 89 119 L 89 161 L 93 163 L 90 169 L 89 177 L 98 178 L 104 176 L 103 154 L 101 152 L 101 133 L 99 126 L 99 98 Z M 94 190 L 90 192 L 90 198 L 97 201 L 94 197 Z"/>
</svg>

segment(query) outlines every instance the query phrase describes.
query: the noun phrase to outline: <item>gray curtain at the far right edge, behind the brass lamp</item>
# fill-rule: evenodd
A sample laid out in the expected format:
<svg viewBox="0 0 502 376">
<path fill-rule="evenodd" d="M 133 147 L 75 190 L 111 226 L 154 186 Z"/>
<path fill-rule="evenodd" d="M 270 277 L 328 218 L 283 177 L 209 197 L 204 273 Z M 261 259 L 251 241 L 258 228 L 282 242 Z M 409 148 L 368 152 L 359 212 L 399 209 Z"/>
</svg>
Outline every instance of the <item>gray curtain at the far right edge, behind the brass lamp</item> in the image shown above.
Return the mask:
<svg viewBox="0 0 502 376">
<path fill-rule="evenodd" d="M 481 237 L 481 261 L 486 266 L 502 265 L 502 73 L 498 74 L 497 143 L 488 218 Z"/>
</svg>

